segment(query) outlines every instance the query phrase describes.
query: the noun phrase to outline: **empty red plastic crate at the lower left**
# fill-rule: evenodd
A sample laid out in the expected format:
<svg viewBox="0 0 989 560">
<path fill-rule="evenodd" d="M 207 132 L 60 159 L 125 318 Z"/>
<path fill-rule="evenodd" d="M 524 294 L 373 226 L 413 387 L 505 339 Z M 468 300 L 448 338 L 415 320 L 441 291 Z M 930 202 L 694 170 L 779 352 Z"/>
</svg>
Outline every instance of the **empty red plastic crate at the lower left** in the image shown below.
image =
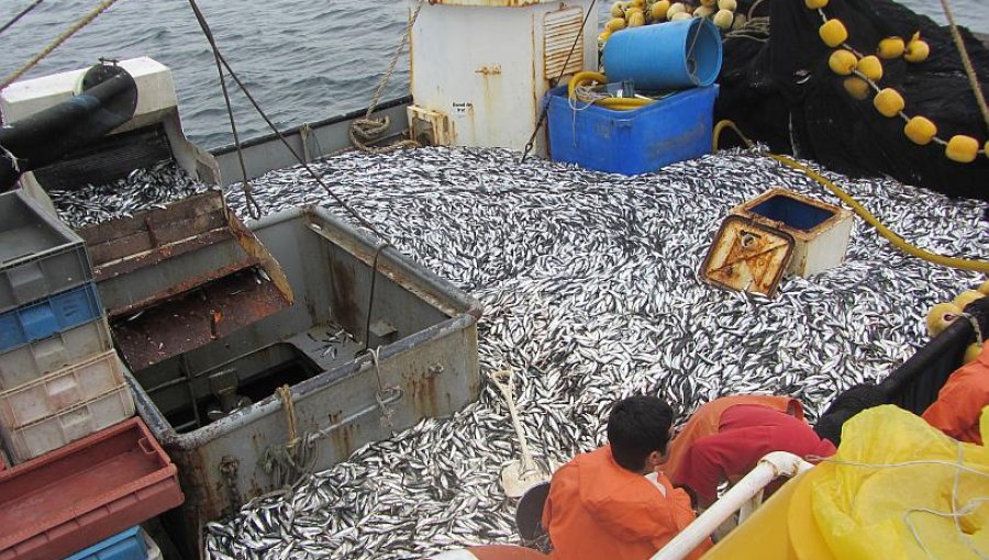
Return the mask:
<svg viewBox="0 0 989 560">
<path fill-rule="evenodd" d="M 0 472 L 0 560 L 47 560 L 185 501 L 177 469 L 138 417 Z"/>
</svg>

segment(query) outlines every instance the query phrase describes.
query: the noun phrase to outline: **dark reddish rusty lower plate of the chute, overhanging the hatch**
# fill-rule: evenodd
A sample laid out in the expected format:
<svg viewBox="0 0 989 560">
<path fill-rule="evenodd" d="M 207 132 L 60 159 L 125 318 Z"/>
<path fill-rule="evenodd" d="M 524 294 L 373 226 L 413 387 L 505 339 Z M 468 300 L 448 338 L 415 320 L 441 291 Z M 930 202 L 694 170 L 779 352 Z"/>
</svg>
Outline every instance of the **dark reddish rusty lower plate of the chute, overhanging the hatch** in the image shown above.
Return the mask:
<svg viewBox="0 0 989 560">
<path fill-rule="evenodd" d="M 143 369 L 227 336 L 287 305 L 274 282 L 249 269 L 223 275 L 112 328 L 116 348 L 131 369 Z"/>
</svg>

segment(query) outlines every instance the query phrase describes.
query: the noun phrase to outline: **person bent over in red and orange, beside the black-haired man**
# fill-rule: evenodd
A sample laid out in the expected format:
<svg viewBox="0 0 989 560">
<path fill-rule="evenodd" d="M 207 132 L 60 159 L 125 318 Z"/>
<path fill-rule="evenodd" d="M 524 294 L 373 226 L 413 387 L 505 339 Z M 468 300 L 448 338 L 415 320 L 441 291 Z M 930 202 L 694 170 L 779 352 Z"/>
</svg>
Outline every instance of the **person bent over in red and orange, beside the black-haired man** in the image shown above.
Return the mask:
<svg viewBox="0 0 989 560">
<path fill-rule="evenodd" d="M 705 508 L 718 499 L 721 482 L 737 481 L 770 451 L 788 451 L 804 458 L 830 457 L 835 448 L 801 417 L 760 404 L 733 404 L 719 415 L 718 433 L 696 439 L 684 450 L 676 472 L 669 478 L 696 496 L 698 506 Z M 767 490 L 771 492 L 773 488 Z"/>
</svg>

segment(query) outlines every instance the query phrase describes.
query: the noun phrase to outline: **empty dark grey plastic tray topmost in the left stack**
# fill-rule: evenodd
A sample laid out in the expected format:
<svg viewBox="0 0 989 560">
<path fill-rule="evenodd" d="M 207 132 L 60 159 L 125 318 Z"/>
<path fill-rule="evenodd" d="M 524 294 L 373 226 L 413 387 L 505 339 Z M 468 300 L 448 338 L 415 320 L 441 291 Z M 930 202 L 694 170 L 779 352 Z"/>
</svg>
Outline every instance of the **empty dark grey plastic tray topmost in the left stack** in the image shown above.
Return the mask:
<svg viewBox="0 0 989 560">
<path fill-rule="evenodd" d="M 21 191 L 0 194 L 0 313 L 90 280 L 81 237 Z"/>
</svg>

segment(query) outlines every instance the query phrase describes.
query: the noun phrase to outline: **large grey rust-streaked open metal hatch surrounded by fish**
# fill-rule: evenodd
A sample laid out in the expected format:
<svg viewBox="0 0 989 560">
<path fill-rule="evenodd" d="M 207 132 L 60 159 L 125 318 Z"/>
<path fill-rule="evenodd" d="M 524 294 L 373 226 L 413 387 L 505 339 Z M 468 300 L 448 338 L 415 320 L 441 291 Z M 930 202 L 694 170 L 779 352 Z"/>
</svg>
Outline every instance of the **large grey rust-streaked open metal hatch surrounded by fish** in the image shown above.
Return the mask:
<svg viewBox="0 0 989 560">
<path fill-rule="evenodd" d="M 295 305 L 132 368 L 138 413 L 179 466 L 188 497 L 179 525 L 191 537 L 180 541 L 278 488 L 263 459 L 293 436 L 314 445 L 312 469 L 324 469 L 423 417 L 454 413 L 480 390 L 475 299 L 322 209 L 285 211 L 253 228 Z M 282 384 L 291 407 L 273 394 Z"/>
</svg>

